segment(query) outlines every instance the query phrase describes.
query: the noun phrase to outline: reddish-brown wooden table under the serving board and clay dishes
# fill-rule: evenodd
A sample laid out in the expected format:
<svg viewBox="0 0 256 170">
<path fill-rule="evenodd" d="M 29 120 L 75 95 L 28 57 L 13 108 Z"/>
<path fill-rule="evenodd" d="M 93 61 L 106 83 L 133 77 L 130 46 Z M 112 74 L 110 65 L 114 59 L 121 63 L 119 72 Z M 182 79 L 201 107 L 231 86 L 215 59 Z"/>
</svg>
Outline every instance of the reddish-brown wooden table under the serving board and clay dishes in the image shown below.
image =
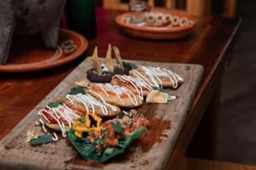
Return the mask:
<svg viewBox="0 0 256 170">
<path fill-rule="evenodd" d="M 178 41 L 149 41 L 128 37 L 120 31 L 114 23 L 115 16 L 120 13 L 116 10 L 97 9 L 97 37 L 90 40 L 84 56 L 73 63 L 48 71 L 0 73 L 0 139 L 73 71 L 87 54 L 92 54 L 95 45 L 99 48 L 99 54 L 105 56 L 108 43 L 112 43 L 119 47 L 124 59 L 201 64 L 205 67 L 200 88 L 166 165 L 166 168 L 177 168 L 201 117 L 205 113 L 211 117 L 216 112 L 218 87 L 225 64 L 230 59 L 241 20 L 201 18 L 190 37 Z M 211 108 L 211 111 L 207 111 L 207 108 Z"/>
</svg>

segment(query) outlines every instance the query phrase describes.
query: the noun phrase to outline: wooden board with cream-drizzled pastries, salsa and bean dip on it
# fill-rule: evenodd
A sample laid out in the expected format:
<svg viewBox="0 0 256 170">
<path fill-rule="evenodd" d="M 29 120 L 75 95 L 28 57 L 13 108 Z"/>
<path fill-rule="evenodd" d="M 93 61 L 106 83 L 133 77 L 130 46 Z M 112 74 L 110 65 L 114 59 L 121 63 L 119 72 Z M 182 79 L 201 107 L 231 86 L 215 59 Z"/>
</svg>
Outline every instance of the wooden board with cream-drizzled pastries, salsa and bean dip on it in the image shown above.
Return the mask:
<svg viewBox="0 0 256 170">
<path fill-rule="evenodd" d="M 1 141 L 1 167 L 164 166 L 202 66 L 123 60 L 111 45 L 105 58 L 97 51 Z"/>
</svg>

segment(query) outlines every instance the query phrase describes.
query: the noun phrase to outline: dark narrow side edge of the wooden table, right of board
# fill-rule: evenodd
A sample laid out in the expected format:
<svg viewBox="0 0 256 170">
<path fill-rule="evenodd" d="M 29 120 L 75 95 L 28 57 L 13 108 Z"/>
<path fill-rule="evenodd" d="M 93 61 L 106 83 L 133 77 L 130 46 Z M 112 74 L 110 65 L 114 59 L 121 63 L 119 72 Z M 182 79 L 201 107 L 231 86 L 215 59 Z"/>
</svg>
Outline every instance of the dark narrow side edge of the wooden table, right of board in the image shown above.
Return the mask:
<svg viewBox="0 0 256 170">
<path fill-rule="evenodd" d="M 224 50 L 218 57 L 218 64 L 214 66 L 214 71 L 212 71 L 210 73 L 211 76 L 207 78 L 207 83 L 201 83 L 201 88 L 204 88 L 204 90 L 201 90 L 201 88 L 198 90 L 198 98 L 196 97 L 192 103 L 189 111 L 189 117 L 183 126 L 183 131 L 180 134 L 179 139 L 177 139 L 175 150 L 172 152 L 172 156 L 166 165 L 166 169 L 171 167 L 179 168 L 181 165 L 180 163 L 183 162 L 183 157 L 185 156 L 187 146 L 190 143 L 196 128 L 198 127 L 198 123 L 201 121 L 201 117 L 204 114 L 207 114 L 207 107 L 210 104 L 211 99 L 214 97 L 214 90 L 220 86 L 224 69 L 226 67 L 226 61 L 227 59 L 230 59 L 230 53 L 232 52 L 234 43 L 236 42 L 236 33 L 240 26 L 241 20 L 238 20 L 230 39 L 225 44 Z"/>
</svg>

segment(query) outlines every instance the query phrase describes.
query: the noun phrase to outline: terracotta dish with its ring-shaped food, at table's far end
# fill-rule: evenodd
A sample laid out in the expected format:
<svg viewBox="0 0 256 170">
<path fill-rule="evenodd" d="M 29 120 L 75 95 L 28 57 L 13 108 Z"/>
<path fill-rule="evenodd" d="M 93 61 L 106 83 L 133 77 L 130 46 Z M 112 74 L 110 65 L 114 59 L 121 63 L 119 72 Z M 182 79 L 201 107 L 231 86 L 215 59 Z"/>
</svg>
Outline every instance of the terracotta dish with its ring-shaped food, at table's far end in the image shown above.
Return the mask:
<svg viewBox="0 0 256 170">
<path fill-rule="evenodd" d="M 181 11 L 152 10 L 119 14 L 116 23 L 132 37 L 179 39 L 191 33 L 196 25 L 196 19 Z"/>
</svg>

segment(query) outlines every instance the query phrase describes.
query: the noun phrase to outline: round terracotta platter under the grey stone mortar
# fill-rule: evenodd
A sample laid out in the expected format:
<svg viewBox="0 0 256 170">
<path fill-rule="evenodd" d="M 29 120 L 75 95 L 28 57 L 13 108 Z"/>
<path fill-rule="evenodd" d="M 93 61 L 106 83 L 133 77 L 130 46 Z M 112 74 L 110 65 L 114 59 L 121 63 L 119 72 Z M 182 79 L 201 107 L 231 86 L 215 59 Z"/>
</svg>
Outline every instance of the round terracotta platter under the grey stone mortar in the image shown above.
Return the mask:
<svg viewBox="0 0 256 170">
<path fill-rule="evenodd" d="M 13 40 L 7 64 L 0 65 L 0 72 L 40 71 L 64 65 L 81 56 L 87 47 L 84 36 L 67 29 L 60 29 L 55 50 L 45 49 L 40 37 L 18 37 Z"/>
</svg>

